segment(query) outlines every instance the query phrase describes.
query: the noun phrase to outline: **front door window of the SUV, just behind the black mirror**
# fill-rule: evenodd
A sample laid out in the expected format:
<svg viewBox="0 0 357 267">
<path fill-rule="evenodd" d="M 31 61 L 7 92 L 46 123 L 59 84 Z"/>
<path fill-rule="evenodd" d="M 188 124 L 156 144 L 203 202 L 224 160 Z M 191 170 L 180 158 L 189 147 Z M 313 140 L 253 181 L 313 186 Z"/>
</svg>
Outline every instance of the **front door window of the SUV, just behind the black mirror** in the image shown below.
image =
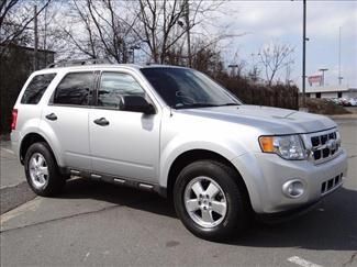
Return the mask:
<svg viewBox="0 0 357 267">
<path fill-rule="evenodd" d="M 102 73 L 98 91 L 98 105 L 119 109 L 123 96 L 145 97 L 145 91 L 131 75 Z"/>
</svg>

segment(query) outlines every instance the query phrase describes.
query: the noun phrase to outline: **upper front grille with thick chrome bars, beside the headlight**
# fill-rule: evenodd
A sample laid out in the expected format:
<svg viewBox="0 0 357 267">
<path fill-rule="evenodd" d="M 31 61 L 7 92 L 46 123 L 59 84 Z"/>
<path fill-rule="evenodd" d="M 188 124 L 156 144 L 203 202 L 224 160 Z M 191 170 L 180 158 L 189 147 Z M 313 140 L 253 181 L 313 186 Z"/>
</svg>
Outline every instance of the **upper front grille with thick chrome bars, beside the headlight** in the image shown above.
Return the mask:
<svg viewBox="0 0 357 267">
<path fill-rule="evenodd" d="M 328 159 L 339 149 L 339 134 L 336 130 L 311 136 L 314 160 Z"/>
</svg>

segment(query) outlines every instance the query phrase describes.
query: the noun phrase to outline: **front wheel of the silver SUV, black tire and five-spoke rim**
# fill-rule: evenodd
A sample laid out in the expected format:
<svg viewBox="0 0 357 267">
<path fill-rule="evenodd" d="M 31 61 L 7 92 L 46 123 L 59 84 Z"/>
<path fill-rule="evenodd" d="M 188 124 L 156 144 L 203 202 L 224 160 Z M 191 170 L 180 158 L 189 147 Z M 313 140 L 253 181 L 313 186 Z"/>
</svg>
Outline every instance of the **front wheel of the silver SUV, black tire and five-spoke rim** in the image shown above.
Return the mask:
<svg viewBox="0 0 357 267">
<path fill-rule="evenodd" d="M 200 160 L 185 167 L 174 186 L 175 209 L 183 225 L 209 241 L 242 234 L 250 216 L 242 182 L 235 170 L 217 162 Z"/>
</svg>

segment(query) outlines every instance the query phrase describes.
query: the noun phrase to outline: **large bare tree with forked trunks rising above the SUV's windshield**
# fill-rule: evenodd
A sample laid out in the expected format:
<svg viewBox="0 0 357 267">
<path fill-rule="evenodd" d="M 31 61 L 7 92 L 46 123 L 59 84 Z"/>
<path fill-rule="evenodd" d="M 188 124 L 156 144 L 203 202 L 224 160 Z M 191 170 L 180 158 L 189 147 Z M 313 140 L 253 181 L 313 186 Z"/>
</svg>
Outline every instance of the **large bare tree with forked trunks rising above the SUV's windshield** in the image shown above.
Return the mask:
<svg viewBox="0 0 357 267">
<path fill-rule="evenodd" d="M 140 0 L 136 32 L 141 41 L 147 45 L 154 63 L 169 62 L 174 52 L 183 53 L 185 36 L 209 13 L 215 11 L 223 1 L 204 2 L 189 0 Z M 135 3 L 134 3 L 135 4 Z M 188 38 L 189 40 L 189 38 Z M 188 44 L 190 45 L 190 44 Z M 187 62 L 192 53 L 187 47 Z M 175 54 L 174 53 L 174 54 Z"/>
</svg>

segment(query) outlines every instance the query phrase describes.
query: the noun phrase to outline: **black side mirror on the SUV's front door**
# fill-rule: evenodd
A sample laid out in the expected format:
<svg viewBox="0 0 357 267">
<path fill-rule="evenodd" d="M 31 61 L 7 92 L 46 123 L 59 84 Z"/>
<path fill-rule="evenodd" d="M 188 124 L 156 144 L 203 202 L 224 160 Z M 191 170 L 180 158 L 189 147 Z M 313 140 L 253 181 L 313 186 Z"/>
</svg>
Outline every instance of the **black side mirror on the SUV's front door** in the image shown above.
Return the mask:
<svg viewBox="0 0 357 267">
<path fill-rule="evenodd" d="M 120 109 L 124 111 L 141 112 L 144 114 L 155 114 L 153 104 L 148 103 L 141 96 L 123 96 L 120 103 Z"/>
</svg>

